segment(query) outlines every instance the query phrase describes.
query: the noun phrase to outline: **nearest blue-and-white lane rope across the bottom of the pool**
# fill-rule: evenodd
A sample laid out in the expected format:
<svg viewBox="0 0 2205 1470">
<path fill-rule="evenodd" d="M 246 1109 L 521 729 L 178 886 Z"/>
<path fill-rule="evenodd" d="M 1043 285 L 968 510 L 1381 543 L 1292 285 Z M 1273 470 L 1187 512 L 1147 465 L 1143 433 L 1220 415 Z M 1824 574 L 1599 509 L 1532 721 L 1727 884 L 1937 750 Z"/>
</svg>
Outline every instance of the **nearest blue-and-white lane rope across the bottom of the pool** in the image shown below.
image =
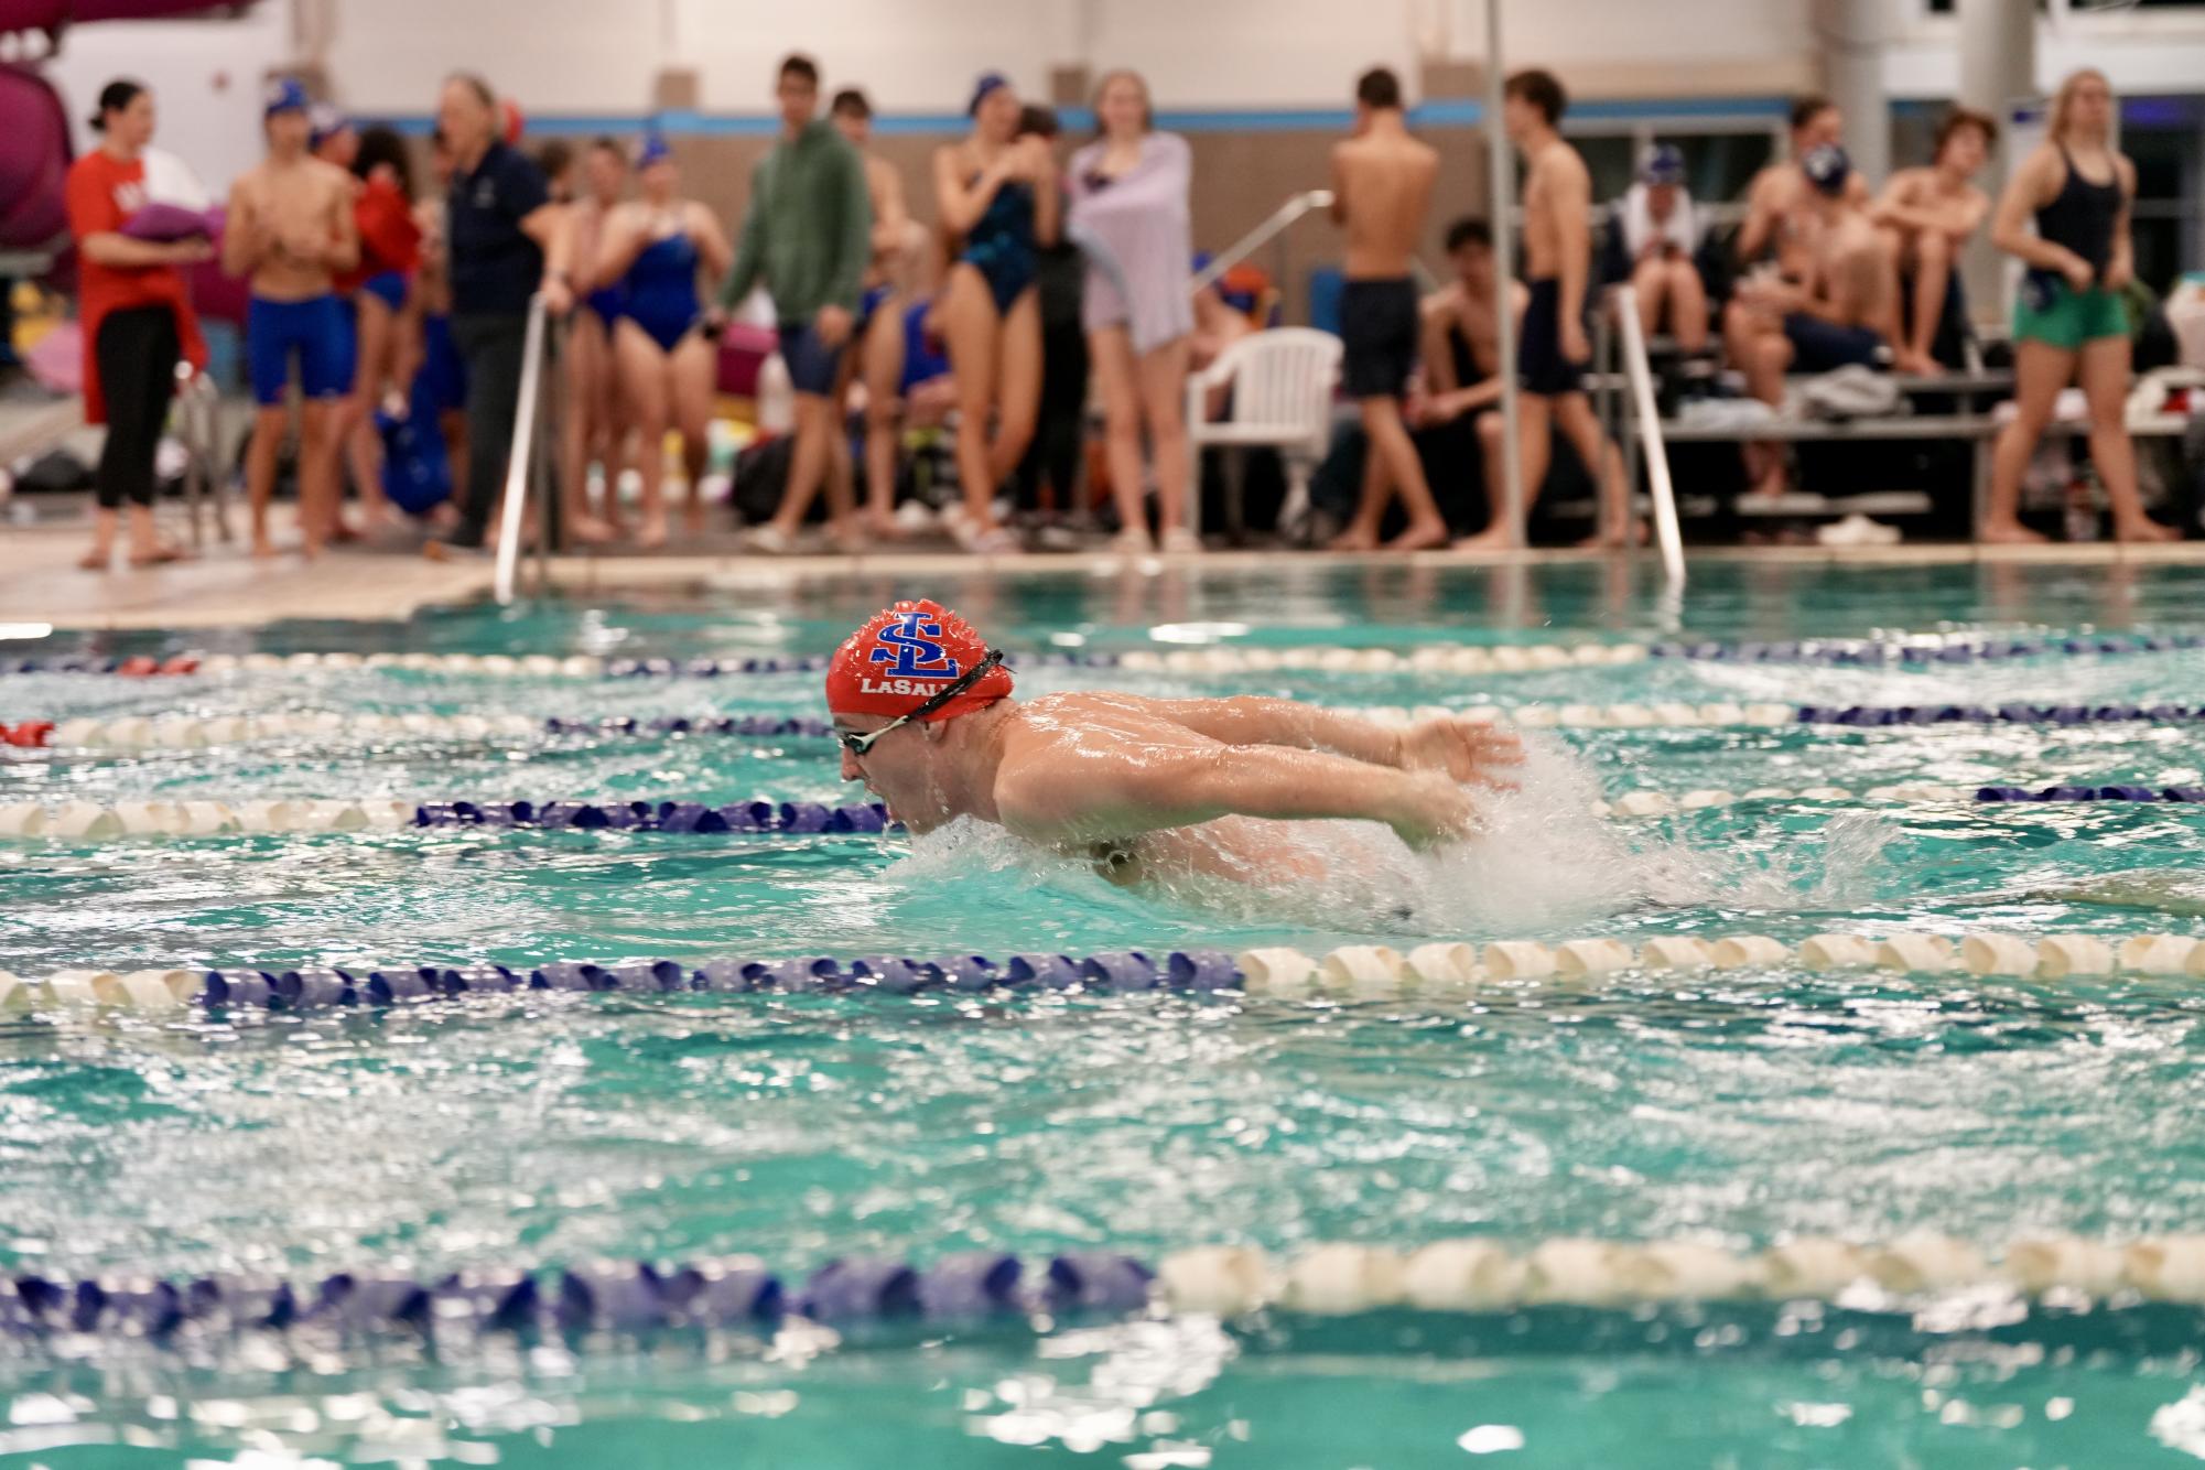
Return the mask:
<svg viewBox="0 0 2205 1470">
<path fill-rule="evenodd" d="M 2064 1309 L 2198 1307 L 2205 1305 L 2205 1236 L 2046 1234 L 2011 1241 L 1996 1256 L 1934 1232 L 1870 1243 L 1795 1236 L 1757 1252 L 1700 1239 L 1579 1236 L 1510 1250 L 1469 1236 L 1418 1247 L 1321 1243 L 1288 1256 L 1255 1245 L 1197 1245 L 1155 1263 L 1080 1250 L 1047 1256 L 1039 1269 L 1017 1254 L 979 1250 L 928 1263 L 840 1256 L 787 1278 L 756 1256 L 432 1274 L 366 1267 L 298 1283 L 243 1272 L 183 1280 L 15 1272 L 0 1274 L 0 1336 L 44 1344 L 86 1338 L 190 1342 L 225 1333 L 467 1340 L 686 1329 L 770 1333 L 792 1318 L 829 1329 L 1021 1318 L 1041 1327 L 1080 1316 L 1491 1316 L 1539 1307 L 1801 1300 L 1905 1314 L 1962 1291 L 2057 1300 Z"/>
</svg>

